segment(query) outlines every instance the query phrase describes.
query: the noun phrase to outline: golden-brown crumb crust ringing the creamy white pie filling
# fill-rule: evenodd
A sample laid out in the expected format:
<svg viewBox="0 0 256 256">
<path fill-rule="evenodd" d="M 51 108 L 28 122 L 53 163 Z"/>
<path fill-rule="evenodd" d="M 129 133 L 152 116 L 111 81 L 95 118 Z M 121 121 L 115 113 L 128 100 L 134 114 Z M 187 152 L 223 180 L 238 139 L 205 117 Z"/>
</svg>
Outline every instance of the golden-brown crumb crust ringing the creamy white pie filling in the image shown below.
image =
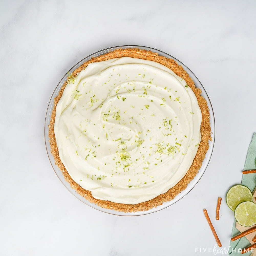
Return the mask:
<svg viewBox="0 0 256 256">
<path fill-rule="evenodd" d="M 118 58 L 118 57 L 132 57 L 132 58 L 147 59 L 147 60 L 158 62 L 170 68 L 171 70 L 174 71 L 175 74 L 183 78 L 188 84 L 188 86 L 194 91 L 198 100 L 199 107 L 202 112 L 201 142 L 200 142 L 196 157 L 193 161 L 193 164 L 189 168 L 187 174 L 184 176 L 182 180 L 180 180 L 174 187 L 169 189 L 166 193 L 161 194 L 149 201 L 142 202 L 135 205 L 118 204 L 110 201 L 95 199 L 94 197 L 92 197 L 91 192 L 89 190 L 83 189 L 76 182 L 74 182 L 74 180 L 70 177 L 66 168 L 64 167 L 64 165 L 62 164 L 59 158 L 58 147 L 56 144 L 56 139 L 54 134 L 54 122 L 55 122 L 55 114 L 56 114 L 56 105 L 62 96 L 63 90 L 67 82 L 63 84 L 59 92 L 59 95 L 54 99 L 54 108 L 52 110 L 51 120 L 49 125 L 49 138 L 50 138 L 49 141 L 51 146 L 51 154 L 54 156 L 55 164 L 60 168 L 60 170 L 63 173 L 63 176 L 65 177 L 66 181 L 70 184 L 70 186 L 73 189 L 75 189 L 79 195 L 83 196 L 91 203 L 99 205 L 100 207 L 103 207 L 103 208 L 113 209 L 113 210 L 122 211 L 122 212 L 147 211 L 151 208 L 162 205 L 163 202 L 173 200 L 175 196 L 177 196 L 181 191 L 186 189 L 189 182 L 195 178 L 196 174 L 198 173 L 198 170 L 202 165 L 202 161 L 205 158 L 205 154 L 209 148 L 209 140 L 212 140 L 209 108 L 206 100 L 200 95 L 201 90 L 195 87 L 194 81 L 189 77 L 188 73 L 184 70 L 182 66 L 178 65 L 178 63 L 173 59 L 168 59 L 166 57 L 159 56 L 157 53 L 147 51 L 147 50 L 141 50 L 138 48 L 116 49 L 114 51 L 108 52 L 99 57 L 92 57 L 90 60 L 86 61 L 85 63 L 83 63 L 83 65 L 77 68 L 72 73 L 72 76 L 75 77 L 82 69 L 86 68 L 88 64 L 91 62 L 99 62 L 99 61 Z"/>
</svg>

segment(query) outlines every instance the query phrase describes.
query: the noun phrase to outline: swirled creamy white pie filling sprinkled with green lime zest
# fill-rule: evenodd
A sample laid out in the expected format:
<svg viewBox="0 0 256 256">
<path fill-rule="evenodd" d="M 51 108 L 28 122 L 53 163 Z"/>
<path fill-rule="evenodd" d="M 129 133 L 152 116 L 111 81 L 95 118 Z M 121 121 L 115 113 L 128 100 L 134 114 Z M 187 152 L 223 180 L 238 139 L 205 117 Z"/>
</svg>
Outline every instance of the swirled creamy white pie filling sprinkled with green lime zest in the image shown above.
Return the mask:
<svg viewBox="0 0 256 256">
<path fill-rule="evenodd" d="M 185 176 L 201 119 L 185 80 L 154 61 L 123 57 L 90 63 L 69 78 L 54 132 L 76 183 L 94 198 L 137 204 Z"/>
</svg>

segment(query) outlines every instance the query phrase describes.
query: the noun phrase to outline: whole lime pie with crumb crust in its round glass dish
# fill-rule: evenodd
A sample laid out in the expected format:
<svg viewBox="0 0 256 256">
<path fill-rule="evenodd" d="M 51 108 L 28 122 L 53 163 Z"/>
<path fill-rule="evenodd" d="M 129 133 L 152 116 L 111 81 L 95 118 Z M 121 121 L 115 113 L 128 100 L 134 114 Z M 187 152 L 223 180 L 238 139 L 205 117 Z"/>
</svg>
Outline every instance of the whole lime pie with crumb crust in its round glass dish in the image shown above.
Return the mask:
<svg viewBox="0 0 256 256">
<path fill-rule="evenodd" d="M 79 199 L 140 215 L 174 203 L 200 179 L 214 117 L 200 82 L 179 64 L 155 49 L 115 47 L 62 79 L 47 110 L 46 146 Z"/>
</svg>

